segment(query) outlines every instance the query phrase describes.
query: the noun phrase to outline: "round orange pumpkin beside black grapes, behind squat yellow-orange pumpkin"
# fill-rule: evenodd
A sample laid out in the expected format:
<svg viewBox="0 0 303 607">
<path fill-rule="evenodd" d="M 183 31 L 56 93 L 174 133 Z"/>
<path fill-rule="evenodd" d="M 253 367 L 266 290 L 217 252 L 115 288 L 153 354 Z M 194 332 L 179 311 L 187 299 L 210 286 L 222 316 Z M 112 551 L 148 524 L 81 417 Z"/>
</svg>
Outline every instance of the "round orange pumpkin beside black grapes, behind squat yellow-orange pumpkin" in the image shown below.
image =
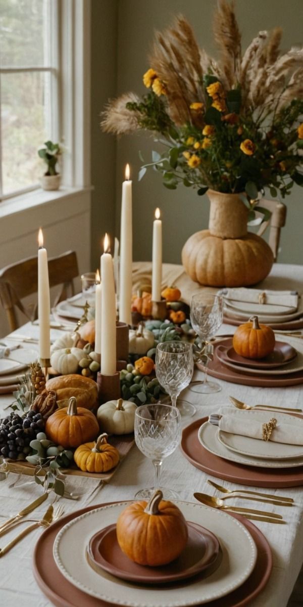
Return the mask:
<svg viewBox="0 0 303 607">
<path fill-rule="evenodd" d="M 84 407 L 77 408 L 75 396 L 68 401 L 68 407 L 57 409 L 46 421 L 47 438 L 65 449 L 79 447 L 85 441 L 92 441 L 99 432 L 96 416 Z"/>
</svg>

